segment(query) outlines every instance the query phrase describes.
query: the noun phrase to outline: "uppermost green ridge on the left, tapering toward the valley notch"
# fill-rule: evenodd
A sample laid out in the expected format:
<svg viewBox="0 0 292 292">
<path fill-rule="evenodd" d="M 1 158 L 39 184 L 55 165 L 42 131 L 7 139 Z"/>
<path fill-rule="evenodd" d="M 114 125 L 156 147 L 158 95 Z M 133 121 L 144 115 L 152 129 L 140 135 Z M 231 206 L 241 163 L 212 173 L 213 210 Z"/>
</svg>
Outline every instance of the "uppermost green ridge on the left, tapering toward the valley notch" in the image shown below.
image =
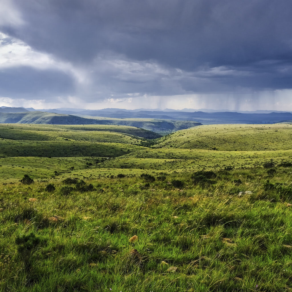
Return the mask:
<svg viewBox="0 0 292 292">
<path fill-rule="evenodd" d="M 52 132 L 52 133 L 48 133 Z M 53 133 L 56 132 L 56 133 Z M 58 133 L 57 133 L 58 132 Z M 62 132 L 62 133 L 59 133 Z M 13 140 L 52 140 L 55 137 L 64 137 L 74 140 L 95 140 L 98 141 L 98 136 L 102 136 L 100 132 L 119 133 L 121 135 L 135 136 L 135 138 L 156 139 L 161 137 L 157 133 L 144 129 L 116 126 L 116 125 L 34 125 L 34 124 L 0 124 L 0 138 Z M 79 134 L 77 134 L 79 133 Z M 106 133 L 104 133 L 105 135 Z M 78 135 L 78 136 L 74 136 Z M 109 134 L 112 135 L 112 134 Z M 86 137 L 94 137 L 86 139 Z M 117 139 L 120 140 L 117 136 Z M 115 141 L 114 137 L 110 137 L 111 142 Z M 128 138 L 126 138 L 128 139 Z M 99 141 L 103 142 L 103 141 Z M 107 141 L 106 141 L 107 142 Z M 126 141 L 125 141 L 126 142 Z M 122 143 L 122 142 L 121 142 Z M 133 144 L 133 141 L 130 143 Z"/>
</svg>

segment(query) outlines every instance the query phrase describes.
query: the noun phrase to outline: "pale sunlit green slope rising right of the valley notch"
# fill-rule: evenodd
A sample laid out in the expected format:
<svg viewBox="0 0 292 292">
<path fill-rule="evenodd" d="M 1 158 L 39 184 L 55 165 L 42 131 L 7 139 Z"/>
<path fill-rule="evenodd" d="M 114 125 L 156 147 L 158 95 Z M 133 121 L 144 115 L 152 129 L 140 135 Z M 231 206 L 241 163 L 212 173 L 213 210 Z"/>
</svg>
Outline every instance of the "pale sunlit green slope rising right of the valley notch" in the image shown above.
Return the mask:
<svg viewBox="0 0 292 292">
<path fill-rule="evenodd" d="M 288 150 L 292 148 L 292 125 L 202 125 L 158 139 L 158 148 L 209 150 Z"/>
</svg>

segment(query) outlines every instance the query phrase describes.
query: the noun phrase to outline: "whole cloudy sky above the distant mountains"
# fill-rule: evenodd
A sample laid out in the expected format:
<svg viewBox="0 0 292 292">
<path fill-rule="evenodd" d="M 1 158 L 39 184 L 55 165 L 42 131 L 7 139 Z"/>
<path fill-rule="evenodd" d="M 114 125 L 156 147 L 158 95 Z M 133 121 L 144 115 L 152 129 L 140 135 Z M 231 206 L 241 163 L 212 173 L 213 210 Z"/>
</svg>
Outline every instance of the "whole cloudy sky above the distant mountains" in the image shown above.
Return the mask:
<svg viewBox="0 0 292 292">
<path fill-rule="evenodd" d="M 292 111 L 291 0 L 0 7 L 0 106 Z"/>
</svg>

